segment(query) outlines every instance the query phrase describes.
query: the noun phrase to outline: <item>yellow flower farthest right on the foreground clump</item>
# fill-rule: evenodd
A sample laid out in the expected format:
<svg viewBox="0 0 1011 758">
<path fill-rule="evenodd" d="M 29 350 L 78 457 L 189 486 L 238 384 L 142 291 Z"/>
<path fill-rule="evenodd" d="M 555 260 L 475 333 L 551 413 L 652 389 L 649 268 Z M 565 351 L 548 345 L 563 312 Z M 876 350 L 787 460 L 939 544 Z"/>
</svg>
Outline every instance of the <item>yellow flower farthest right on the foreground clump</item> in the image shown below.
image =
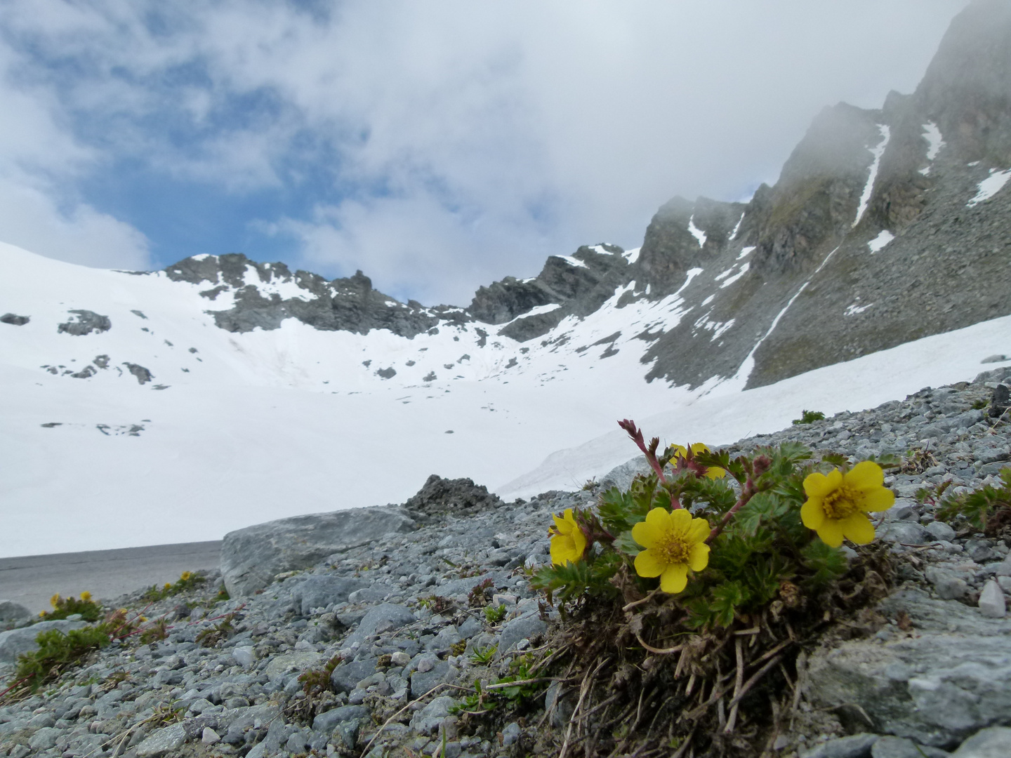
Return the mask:
<svg viewBox="0 0 1011 758">
<path fill-rule="evenodd" d="M 839 469 L 828 476 L 810 474 L 804 492 L 808 499 L 801 506 L 801 520 L 833 548 L 842 545 L 844 537 L 857 545 L 874 540 L 875 528 L 865 513 L 888 510 L 895 503 L 895 493 L 885 487 L 885 472 L 871 461 L 858 463 L 845 474 Z"/>
</svg>

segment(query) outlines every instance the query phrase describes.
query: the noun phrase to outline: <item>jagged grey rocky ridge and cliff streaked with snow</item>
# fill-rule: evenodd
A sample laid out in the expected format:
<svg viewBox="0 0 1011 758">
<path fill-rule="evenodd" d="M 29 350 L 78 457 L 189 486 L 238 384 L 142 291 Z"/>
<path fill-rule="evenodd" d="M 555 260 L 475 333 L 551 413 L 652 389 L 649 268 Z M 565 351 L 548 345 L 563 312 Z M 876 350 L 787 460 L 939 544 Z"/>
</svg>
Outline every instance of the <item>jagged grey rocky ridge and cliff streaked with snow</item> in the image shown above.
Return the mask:
<svg viewBox="0 0 1011 758">
<path fill-rule="evenodd" d="M 610 298 L 669 300 L 647 327 L 647 379 L 761 386 L 1011 313 L 1011 5 L 976 0 L 952 22 L 912 95 L 880 110 L 825 108 L 746 204 L 673 198 L 639 251 L 550 257 L 532 279 L 481 287 L 467 308 L 400 303 L 358 272 L 327 281 L 229 255 L 187 259 L 173 279 L 208 284 L 219 326 L 387 328 L 486 324 L 520 342 Z M 665 308 L 666 303 L 661 303 Z M 218 305 L 219 308 L 219 305 Z M 482 331 L 482 333 L 483 333 Z"/>
</svg>

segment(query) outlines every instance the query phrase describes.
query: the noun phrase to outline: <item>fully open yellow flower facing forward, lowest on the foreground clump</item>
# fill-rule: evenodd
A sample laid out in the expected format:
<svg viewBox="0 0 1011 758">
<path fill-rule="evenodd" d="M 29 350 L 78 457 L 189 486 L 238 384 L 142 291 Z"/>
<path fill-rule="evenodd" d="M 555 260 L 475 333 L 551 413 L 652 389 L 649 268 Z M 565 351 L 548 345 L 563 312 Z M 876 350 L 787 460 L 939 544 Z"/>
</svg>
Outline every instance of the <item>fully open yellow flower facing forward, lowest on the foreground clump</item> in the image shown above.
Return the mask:
<svg viewBox="0 0 1011 758">
<path fill-rule="evenodd" d="M 702 571 L 709 565 L 709 522 L 695 518 L 684 508 L 672 513 L 653 508 L 646 520 L 632 527 L 632 539 L 643 550 L 635 557 L 639 576 L 660 577 L 660 589 L 676 594 L 688 582 L 688 569 Z"/>
</svg>

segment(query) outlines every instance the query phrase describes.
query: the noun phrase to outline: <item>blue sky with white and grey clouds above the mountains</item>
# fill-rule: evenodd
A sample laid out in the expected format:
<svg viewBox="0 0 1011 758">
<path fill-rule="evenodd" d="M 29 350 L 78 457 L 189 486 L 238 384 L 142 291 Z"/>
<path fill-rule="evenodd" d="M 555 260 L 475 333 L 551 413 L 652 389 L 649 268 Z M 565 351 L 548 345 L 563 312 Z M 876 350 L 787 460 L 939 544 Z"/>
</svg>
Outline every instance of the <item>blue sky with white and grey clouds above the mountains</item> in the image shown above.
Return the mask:
<svg viewBox="0 0 1011 758">
<path fill-rule="evenodd" d="M 5 0 L 0 242 L 466 305 L 774 183 L 823 107 L 912 92 L 964 5 Z"/>
</svg>

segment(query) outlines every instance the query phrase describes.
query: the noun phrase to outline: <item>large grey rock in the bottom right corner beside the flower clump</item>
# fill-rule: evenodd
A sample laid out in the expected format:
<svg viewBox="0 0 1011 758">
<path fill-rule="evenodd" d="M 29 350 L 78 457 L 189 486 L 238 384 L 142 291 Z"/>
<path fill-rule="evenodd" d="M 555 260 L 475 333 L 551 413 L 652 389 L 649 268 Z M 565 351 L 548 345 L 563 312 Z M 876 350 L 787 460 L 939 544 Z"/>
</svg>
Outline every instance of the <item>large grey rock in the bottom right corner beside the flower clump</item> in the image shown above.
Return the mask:
<svg viewBox="0 0 1011 758">
<path fill-rule="evenodd" d="M 1011 724 L 1011 621 L 919 590 L 892 595 L 881 610 L 908 613 L 913 634 L 813 653 L 805 690 L 814 705 L 858 705 L 880 734 L 944 748 Z"/>
</svg>

